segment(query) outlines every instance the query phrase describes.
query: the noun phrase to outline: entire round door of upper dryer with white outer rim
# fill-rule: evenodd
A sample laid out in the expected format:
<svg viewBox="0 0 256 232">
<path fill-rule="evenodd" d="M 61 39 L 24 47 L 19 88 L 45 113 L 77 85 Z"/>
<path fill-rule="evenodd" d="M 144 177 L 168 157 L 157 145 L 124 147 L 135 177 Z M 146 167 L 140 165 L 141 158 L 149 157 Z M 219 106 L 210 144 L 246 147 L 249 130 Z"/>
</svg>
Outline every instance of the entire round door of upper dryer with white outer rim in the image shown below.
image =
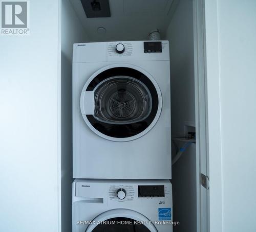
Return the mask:
<svg viewBox="0 0 256 232">
<path fill-rule="evenodd" d="M 127 64 L 106 66 L 83 86 L 82 117 L 99 136 L 112 141 L 134 140 L 157 122 L 162 97 L 154 78 Z"/>
</svg>

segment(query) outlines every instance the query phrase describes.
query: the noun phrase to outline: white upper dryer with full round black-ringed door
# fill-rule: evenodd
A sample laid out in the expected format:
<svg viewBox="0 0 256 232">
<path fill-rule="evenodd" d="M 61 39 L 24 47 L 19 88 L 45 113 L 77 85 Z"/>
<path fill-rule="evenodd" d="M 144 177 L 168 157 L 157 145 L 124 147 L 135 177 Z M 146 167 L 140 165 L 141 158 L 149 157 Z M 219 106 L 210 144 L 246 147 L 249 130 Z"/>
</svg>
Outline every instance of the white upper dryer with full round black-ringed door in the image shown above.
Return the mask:
<svg viewBox="0 0 256 232">
<path fill-rule="evenodd" d="M 73 48 L 73 177 L 170 179 L 168 41 Z"/>
</svg>

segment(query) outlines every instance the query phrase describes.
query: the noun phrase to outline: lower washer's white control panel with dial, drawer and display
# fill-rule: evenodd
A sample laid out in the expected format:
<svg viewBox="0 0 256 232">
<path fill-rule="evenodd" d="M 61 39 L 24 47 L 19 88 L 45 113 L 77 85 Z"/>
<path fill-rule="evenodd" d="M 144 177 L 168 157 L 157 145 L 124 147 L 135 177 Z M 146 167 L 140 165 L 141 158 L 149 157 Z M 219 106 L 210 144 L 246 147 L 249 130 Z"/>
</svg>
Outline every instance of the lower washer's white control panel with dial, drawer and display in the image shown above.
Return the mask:
<svg viewBox="0 0 256 232">
<path fill-rule="evenodd" d="M 73 183 L 73 201 L 101 203 L 111 207 L 161 205 L 172 203 L 169 180 L 80 180 Z"/>
</svg>

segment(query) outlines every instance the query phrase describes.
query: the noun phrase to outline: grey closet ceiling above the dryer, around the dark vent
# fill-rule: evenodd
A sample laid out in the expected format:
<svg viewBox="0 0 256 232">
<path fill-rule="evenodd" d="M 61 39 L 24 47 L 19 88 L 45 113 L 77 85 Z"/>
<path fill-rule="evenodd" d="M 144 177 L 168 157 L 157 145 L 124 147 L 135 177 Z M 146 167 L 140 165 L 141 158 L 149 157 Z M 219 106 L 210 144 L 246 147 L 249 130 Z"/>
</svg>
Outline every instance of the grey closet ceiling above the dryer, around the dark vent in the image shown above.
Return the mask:
<svg viewBox="0 0 256 232">
<path fill-rule="evenodd" d="M 90 41 L 145 40 L 156 28 L 164 38 L 174 5 L 173 0 L 109 0 L 110 18 L 87 18 L 80 0 L 70 2 Z M 98 33 L 99 27 L 106 33 Z"/>
</svg>

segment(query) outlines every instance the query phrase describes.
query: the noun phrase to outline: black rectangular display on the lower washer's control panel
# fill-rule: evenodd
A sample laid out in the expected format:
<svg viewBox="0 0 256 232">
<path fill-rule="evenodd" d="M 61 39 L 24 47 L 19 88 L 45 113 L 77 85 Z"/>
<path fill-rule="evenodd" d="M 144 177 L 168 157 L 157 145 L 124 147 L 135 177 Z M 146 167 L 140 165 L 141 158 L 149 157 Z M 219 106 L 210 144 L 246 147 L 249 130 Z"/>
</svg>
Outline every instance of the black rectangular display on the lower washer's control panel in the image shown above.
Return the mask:
<svg viewBox="0 0 256 232">
<path fill-rule="evenodd" d="M 138 197 L 164 197 L 164 185 L 139 185 Z"/>
</svg>

